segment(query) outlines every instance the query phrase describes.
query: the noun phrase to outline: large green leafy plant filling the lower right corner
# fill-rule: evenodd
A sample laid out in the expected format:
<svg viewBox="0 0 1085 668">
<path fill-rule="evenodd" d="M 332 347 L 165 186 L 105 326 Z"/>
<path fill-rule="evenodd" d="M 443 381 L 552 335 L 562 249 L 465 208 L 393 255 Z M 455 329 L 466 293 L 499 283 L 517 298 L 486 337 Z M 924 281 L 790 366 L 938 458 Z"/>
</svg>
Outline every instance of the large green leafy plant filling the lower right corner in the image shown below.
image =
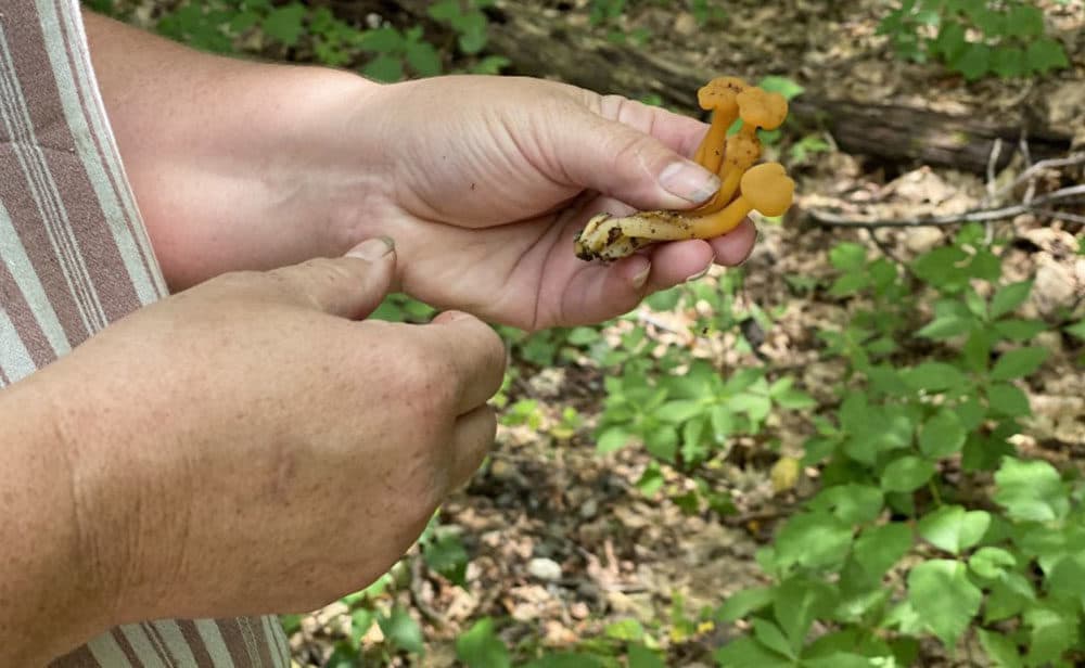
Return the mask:
<svg viewBox="0 0 1085 668">
<path fill-rule="evenodd" d="M 856 244 L 831 258 L 831 293 L 863 306 L 824 335 L 848 375 L 806 444 L 822 487 L 758 553 L 773 584 L 719 607 L 752 632 L 718 664 L 907 666 L 933 637 L 999 666 L 1076 665 L 1085 487 L 1010 440 L 1030 413 L 1020 385 L 1047 358 L 1027 345 L 1045 323 L 1013 314 L 1031 282 L 999 283 L 979 226 L 906 271 Z M 911 359 L 916 346 L 941 355 Z"/>
</svg>

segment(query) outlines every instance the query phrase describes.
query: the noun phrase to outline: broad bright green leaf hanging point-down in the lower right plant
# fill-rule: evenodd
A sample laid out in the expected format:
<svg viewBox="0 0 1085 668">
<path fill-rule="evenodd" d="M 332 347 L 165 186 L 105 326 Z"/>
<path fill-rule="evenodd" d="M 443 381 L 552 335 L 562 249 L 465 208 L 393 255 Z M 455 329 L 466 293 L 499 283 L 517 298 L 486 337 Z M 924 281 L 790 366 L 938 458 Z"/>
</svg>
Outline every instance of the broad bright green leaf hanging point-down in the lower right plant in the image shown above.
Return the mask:
<svg viewBox="0 0 1085 668">
<path fill-rule="evenodd" d="M 908 574 L 908 602 L 950 648 L 968 630 L 982 601 L 983 592 L 968 579 L 967 568 L 959 562 L 930 560 Z"/>
</svg>

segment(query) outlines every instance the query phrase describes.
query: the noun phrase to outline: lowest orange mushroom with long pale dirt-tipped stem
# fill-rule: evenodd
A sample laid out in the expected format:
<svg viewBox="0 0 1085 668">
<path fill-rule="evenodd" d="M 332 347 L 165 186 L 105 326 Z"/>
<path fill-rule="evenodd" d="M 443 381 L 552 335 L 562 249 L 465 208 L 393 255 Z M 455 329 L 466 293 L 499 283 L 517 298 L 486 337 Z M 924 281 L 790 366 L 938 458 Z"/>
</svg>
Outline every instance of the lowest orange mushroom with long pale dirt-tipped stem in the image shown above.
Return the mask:
<svg viewBox="0 0 1085 668">
<path fill-rule="evenodd" d="M 614 218 L 599 214 L 575 240 L 580 259 L 613 260 L 658 241 L 713 239 L 733 230 L 746 215 L 782 216 L 791 206 L 795 182 L 779 163 L 764 163 L 742 176 L 738 198 L 720 211 L 691 216 L 680 211 L 641 211 Z"/>
</svg>

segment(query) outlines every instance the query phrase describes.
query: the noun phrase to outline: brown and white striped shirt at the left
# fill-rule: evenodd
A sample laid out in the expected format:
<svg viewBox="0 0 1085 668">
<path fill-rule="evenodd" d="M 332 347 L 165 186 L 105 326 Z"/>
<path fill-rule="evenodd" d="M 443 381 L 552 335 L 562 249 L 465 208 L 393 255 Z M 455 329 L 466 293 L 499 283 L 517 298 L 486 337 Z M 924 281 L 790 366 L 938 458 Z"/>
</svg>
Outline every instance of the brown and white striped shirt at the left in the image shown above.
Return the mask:
<svg viewBox="0 0 1085 668">
<path fill-rule="evenodd" d="M 0 0 L 0 387 L 167 294 L 76 0 Z M 48 620 L 43 620 L 48 622 Z M 56 667 L 285 667 L 275 617 L 112 629 Z"/>
</svg>

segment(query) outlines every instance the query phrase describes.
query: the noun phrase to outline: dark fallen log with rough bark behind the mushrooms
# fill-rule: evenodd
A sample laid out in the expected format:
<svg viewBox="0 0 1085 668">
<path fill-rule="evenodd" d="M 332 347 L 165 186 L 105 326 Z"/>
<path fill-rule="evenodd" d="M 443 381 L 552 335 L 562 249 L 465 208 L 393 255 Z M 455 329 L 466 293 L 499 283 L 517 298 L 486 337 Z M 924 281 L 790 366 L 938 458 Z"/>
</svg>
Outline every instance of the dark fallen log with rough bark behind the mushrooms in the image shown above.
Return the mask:
<svg viewBox="0 0 1085 668">
<path fill-rule="evenodd" d="M 399 9 L 426 21 L 427 0 L 397 0 Z M 489 47 L 512 62 L 512 74 L 552 77 L 601 93 L 658 95 L 664 103 L 698 113 L 697 89 L 718 73 L 680 54 L 653 53 L 615 44 L 589 26 L 574 26 L 562 12 L 534 3 L 498 2 L 490 13 Z M 826 130 L 841 150 L 892 163 L 949 166 L 982 174 L 995 142 L 1005 166 L 1022 137 L 1033 158 L 1070 150 L 1071 136 L 1036 119 L 984 120 L 904 104 L 833 99 L 807 88 L 792 101 L 789 124 L 800 131 Z"/>
</svg>

